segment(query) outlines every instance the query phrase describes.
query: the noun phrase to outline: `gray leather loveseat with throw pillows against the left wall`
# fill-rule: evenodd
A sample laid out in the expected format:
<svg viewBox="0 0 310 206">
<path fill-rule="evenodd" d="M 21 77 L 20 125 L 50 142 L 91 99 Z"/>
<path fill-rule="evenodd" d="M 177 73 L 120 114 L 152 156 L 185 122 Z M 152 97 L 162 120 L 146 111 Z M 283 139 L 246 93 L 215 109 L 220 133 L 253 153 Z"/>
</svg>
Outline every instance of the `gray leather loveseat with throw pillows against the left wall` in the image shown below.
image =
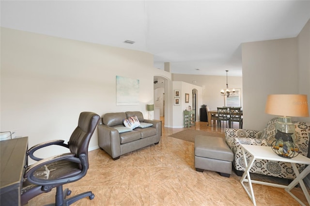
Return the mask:
<svg viewBox="0 0 310 206">
<path fill-rule="evenodd" d="M 124 128 L 124 119 L 137 117 L 141 125 L 148 127 L 137 127 L 132 131 Z M 150 126 L 150 124 L 153 124 Z M 136 112 L 107 113 L 102 118 L 102 124 L 98 125 L 98 145 L 106 151 L 113 160 L 121 155 L 146 147 L 158 144 L 161 137 L 161 122 L 159 120 L 144 119 L 143 114 Z"/>
</svg>

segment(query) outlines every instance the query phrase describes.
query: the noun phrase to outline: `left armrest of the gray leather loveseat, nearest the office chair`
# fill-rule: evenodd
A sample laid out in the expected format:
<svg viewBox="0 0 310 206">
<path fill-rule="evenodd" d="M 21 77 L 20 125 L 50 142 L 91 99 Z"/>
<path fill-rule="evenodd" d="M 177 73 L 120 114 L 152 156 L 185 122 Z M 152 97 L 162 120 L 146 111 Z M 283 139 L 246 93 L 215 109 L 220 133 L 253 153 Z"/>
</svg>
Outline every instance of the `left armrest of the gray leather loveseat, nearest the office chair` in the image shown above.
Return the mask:
<svg viewBox="0 0 310 206">
<path fill-rule="evenodd" d="M 112 158 L 121 156 L 120 133 L 113 127 L 104 124 L 98 125 L 98 145 Z"/>
</svg>

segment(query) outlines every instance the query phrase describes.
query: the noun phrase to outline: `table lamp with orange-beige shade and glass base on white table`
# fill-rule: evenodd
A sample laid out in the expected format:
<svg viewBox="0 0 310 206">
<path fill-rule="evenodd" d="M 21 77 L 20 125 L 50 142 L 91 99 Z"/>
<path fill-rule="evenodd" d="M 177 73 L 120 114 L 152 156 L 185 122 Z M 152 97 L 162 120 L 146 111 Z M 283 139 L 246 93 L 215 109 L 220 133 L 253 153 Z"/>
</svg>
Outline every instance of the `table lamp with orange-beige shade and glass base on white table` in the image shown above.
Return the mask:
<svg viewBox="0 0 310 206">
<path fill-rule="evenodd" d="M 307 95 L 268 95 L 265 113 L 280 116 L 276 124 L 276 140 L 272 143 L 273 150 L 285 158 L 298 155 L 298 148 L 294 145 L 295 126 L 291 117 L 309 117 Z"/>
</svg>

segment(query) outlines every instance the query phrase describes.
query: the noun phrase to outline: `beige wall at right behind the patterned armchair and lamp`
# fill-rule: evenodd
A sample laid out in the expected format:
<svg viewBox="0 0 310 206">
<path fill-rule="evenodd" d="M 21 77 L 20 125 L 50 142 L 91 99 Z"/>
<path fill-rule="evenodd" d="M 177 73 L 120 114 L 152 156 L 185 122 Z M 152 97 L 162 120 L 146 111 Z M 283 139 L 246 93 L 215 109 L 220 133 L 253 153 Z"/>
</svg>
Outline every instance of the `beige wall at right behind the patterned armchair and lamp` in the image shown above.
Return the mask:
<svg viewBox="0 0 310 206">
<path fill-rule="evenodd" d="M 261 130 L 275 116 L 264 113 L 268 94 L 308 94 L 309 22 L 296 38 L 242 44 L 244 128 Z M 294 118 L 310 122 L 310 118 Z"/>
</svg>

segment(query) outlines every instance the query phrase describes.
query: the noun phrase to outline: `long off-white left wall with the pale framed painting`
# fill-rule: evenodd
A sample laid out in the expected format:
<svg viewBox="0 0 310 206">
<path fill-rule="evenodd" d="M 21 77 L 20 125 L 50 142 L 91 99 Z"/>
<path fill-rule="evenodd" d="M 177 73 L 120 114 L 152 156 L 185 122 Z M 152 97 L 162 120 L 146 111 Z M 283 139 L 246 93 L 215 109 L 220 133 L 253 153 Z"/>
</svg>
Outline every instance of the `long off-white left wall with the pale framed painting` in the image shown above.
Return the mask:
<svg viewBox="0 0 310 206">
<path fill-rule="evenodd" d="M 140 80 L 140 105 L 116 106 L 116 75 Z M 0 129 L 29 136 L 31 147 L 68 140 L 82 111 L 136 110 L 148 117 L 155 75 L 171 79 L 145 52 L 1 28 Z M 98 148 L 97 132 L 90 148 Z"/>
</svg>

